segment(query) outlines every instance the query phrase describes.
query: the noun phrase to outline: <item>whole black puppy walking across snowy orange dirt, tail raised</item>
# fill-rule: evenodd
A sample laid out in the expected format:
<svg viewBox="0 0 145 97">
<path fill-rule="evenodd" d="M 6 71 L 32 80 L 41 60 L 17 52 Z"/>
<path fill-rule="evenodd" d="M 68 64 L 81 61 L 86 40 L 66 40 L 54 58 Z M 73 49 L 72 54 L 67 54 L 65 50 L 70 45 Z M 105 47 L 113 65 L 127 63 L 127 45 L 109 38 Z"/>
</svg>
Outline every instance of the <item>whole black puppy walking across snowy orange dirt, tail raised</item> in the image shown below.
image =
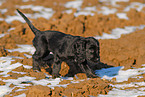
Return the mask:
<svg viewBox="0 0 145 97">
<path fill-rule="evenodd" d="M 17 9 L 24 18 L 32 32 L 35 34 L 33 45 L 36 48 L 33 54 L 33 70 L 39 70 L 41 64 L 47 60 L 50 52 L 53 53 L 52 76 L 58 77 L 61 63 L 66 62 L 70 70 L 86 73 L 88 77 L 97 77 L 89 65 L 100 62 L 99 42 L 93 37 L 81 37 L 64 34 L 59 31 L 40 31 L 36 29 L 28 18 Z M 43 65 L 43 64 L 42 64 Z M 73 75 L 73 74 L 72 74 Z"/>
</svg>

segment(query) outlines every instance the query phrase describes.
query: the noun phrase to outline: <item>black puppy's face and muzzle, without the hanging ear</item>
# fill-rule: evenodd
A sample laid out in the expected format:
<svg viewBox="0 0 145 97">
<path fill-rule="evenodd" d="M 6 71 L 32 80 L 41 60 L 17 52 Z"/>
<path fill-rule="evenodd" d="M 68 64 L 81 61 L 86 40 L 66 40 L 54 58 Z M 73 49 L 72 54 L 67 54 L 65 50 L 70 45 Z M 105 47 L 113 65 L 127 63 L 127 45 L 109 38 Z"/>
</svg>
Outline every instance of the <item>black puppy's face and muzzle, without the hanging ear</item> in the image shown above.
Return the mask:
<svg viewBox="0 0 145 97">
<path fill-rule="evenodd" d="M 100 62 L 99 42 L 93 37 L 86 38 L 86 60 L 93 63 Z"/>
</svg>

